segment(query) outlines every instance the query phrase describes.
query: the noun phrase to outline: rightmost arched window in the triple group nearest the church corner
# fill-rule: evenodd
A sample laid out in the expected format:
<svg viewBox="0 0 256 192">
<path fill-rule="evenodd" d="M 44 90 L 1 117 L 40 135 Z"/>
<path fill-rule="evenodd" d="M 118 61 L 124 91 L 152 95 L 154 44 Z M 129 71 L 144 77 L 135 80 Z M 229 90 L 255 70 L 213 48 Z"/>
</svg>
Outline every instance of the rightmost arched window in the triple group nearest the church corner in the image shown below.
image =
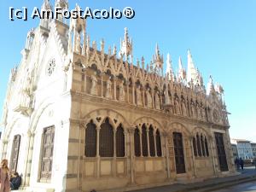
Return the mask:
<svg viewBox="0 0 256 192">
<path fill-rule="evenodd" d="M 115 134 L 116 142 L 116 156 L 124 157 L 125 156 L 125 134 L 122 125 L 119 125 Z"/>
</svg>

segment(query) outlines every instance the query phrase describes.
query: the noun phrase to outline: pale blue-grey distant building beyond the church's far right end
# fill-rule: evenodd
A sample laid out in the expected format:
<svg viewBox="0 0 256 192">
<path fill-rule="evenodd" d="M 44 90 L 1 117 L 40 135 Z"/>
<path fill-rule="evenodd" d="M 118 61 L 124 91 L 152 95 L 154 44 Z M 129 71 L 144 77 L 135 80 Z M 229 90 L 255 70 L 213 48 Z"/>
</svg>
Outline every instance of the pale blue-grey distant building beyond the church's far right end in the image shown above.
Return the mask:
<svg viewBox="0 0 256 192">
<path fill-rule="evenodd" d="M 246 139 L 231 139 L 231 143 L 236 144 L 238 157 L 242 160 L 252 160 L 253 159 L 253 150 L 251 141 Z"/>
</svg>

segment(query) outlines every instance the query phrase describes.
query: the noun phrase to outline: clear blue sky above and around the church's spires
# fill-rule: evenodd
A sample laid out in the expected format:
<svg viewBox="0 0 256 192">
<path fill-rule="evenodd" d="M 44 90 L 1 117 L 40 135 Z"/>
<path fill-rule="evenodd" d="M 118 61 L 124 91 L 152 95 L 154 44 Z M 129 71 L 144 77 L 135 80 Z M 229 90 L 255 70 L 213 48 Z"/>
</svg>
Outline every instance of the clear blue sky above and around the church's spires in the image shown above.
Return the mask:
<svg viewBox="0 0 256 192">
<path fill-rule="evenodd" d="M 39 20 L 9 20 L 9 7 L 26 7 L 32 11 L 43 0 L 2 0 L 0 2 L 0 114 L 9 79 L 9 71 L 20 63 L 20 50 L 25 46 L 26 32 L 38 26 Z M 54 1 L 51 1 L 52 3 Z M 98 43 L 117 44 L 127 26 L 133 38 L 135 59 L 143 55 L 147 62 L 155 44 L 161 53 L 172 55 L 177 70 L 178 56 L 187 66 L 187 49 L 191 50 L 205 84 L 210 74 L 224 86 L 225 102 L 230 111 L 230 136 L 256 142 L 256 1 L 254 0 L 163 0 L 163 1 L 69 1 L 70 9 L 79 3 L 84 9 L 123 9 L 136 11 L 132 20 L 88 20 L 90 39 Z"/>
</svg>

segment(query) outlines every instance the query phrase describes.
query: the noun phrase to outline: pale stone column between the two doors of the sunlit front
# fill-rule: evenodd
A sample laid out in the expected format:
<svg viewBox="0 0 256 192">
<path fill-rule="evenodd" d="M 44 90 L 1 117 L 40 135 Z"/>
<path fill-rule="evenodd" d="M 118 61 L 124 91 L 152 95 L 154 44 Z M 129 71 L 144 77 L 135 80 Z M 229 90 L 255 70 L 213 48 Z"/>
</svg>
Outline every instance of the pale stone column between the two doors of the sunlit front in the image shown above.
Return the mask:
<svg viewBox="0 0 256 192">
<path fill-rule="evenodd" d="M 32 165 L 32 153 L 33 153 L 33 146 L 34 146 L 34 137 L 35 133 L 34 132 L 28 132 L 27 133 L 29 139 L 29 147 L 28 147 L 28 155 L 27 155 L 27 161 L 26 161 L 26 175 L 25 177 L 25 186 L 29 186 L 29 180 L 30 180 L 30 175 L 31 175 L 31 165 Z"/>
</svg>

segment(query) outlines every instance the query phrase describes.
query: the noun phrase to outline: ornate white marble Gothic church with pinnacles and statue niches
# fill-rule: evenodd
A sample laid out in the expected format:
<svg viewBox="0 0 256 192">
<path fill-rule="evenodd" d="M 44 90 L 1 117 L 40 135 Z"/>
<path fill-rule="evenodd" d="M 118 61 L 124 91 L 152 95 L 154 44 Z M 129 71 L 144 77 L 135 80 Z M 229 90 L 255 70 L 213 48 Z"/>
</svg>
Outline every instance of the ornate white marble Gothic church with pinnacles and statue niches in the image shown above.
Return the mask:
<svg viewBox="0 0 256 192">
<path fill-rule="evenodd" d="M 236 173 L 222 86 L 212 77 L 204 86 L 189 51 L 177 74 L 170 55 L 163 72 L 158 46 L 149 64 L 134 63 L 128 36 L 125 28 L 119 51 L 106 53 L 83 19 L 43 19 L 28 32 L 9 77 L 0 151 L 21 189 L 122 191 Z"/>
</svg>

